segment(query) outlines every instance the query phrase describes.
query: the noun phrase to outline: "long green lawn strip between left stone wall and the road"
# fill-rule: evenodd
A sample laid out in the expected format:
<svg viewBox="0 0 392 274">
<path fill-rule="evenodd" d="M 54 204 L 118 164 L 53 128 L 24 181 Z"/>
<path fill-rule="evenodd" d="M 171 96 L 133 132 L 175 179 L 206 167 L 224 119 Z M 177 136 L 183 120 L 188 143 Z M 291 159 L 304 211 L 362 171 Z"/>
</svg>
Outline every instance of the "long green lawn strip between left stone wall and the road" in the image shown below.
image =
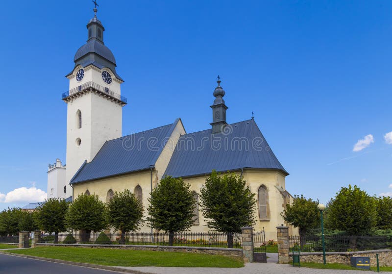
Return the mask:
<svg viewBox="0 0 392 274">
<path fill-rule="evenodd" d="M 74 247 L 37 247 L 34 249 L 9 250 L 9 252 L 106 266 L 228 268 L 244 266 L 244 262 L 237 258 L 186 252 Z"/>
</svg>

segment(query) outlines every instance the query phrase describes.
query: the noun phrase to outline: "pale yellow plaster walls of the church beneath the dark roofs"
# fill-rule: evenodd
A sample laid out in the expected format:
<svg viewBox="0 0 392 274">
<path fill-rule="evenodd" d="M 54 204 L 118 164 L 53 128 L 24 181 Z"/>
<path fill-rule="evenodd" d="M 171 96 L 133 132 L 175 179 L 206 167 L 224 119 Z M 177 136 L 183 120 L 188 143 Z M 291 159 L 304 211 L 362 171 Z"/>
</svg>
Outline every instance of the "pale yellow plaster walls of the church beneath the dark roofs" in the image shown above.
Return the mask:
<svg viewBox="0 0 392 274">
<path fill-rule="evenodd" d="M 235 174 L 241 174 L 241 172 L 236 172 Z M 153 187 L 156 185 L 158 177 L 157 171 L 153 171 Z M 250 187 L 250 190 L 256 194 L 255 198 L 257 199 L 258 189 L 261 185 L 264 185 L 268 190 L 268 204 L 269 204 L 269 214 L 268 220 L 261 220 L 259 218 L 258 205 L 256 205 L 256 213 L 254 216 L 255 224 L 253 225 L 255 230 L 261 230 L 263 227 L 266 231 L 266 240 L 274 239 L 276 240 L 276 226 L 281 224 L 287 225 L 283 221 L 280 212 L 282 212 L 285 202 L 292 202 L 292 199 L 285 199 L 282 195 L 282 192 L 285 190 L 285 176 L 276 171 L 261 171 L 261 170 L 244 170 L 243 177 L 246 180 L 246 185 Z M 185 183 L 189 183 L 191 185 L 191 190 L 195 191 L 197 195 L 200 195 L 200 188 L 205 183 L 206 176 L 196 176 L 184 178 Z M 150 180 L 151 174 L 150 171 L 138 172 L 132 174 L 124 174 L 115 177 L 109 177 L 104 179 L 98 179 L 91 182 L 86 183 L 78 183 L 73 186 L 73 197 L 77 197 L 77 195 L 85 193 L 87 190 L 90 194 L 98 195 L 99 199 L 106 202 L 106 197 L 108 191 L 111 189 L 113 192 L 118 191 L 121 192 L 125 189 L 129 189 L 132 193 L 137 185 L 142 187 L 143 191 L 143 207 L 145 210 L 145 214 L 147 215 L 147 205 L 148 198 L 150 193 Z M 281 191 L 279 191 L 280 189 Z M 150 227 L 147 226 L 147 223 L 141 227 L 141 232 L 149 232 L 151 230 Z M 202 212 L 199 208 L 199 223 L 195 224 L 191 227 L 191 231 L 194 232 L 206 232 L 209 229 L 205 223 Z M 290 227 L 290 234 L 297 235 L 297 229 Z"/>
</svg>

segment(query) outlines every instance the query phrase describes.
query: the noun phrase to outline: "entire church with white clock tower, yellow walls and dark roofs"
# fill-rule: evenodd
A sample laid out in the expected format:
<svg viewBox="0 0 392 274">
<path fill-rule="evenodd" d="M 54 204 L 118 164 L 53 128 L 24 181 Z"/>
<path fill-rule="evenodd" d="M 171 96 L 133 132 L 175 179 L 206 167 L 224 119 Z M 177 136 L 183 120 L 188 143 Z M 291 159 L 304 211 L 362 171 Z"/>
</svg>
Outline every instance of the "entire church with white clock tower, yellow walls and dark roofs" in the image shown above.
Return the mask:
<svg viewBox="0 0 392 274">
<path fill-rule="evenodd" d="M 151 190 L 166 175 L 190 184 L 197 201 L 212 170 L 230 171 L 243 176 L 256 194 L 255 229 L 265 227 L 266 237 L 276 239 L 275 227 L 286 224 L 280 213 L 293 197 L 286 190 L 288 172 L 254 119 L 226 122 L 228 107 L 218 77 L 215 90 L 211 87 L 212 122 L 205 130 L 188 133 L 181 119 L 173 118 L 167 125 L 123 136 L 122 109 L 127 104 L 121 93 L 123 78 L 104 44 L 105 28 L 96 8 L 94 12 L 87 24 L 87 42 L 76 51 L 73 70 L 66 75 L 70 83 L 62 94 L 67 105 L 66 165 L 59 159 L 49 165 L 48 198 L 72 200 L 85 193 L 107 201 L 115 191 L 129 189 L 146 212 Z M 191 231 L 208 230 L 195 202 Z M 141 231 L 150 228 L 145 224 Z"/>
</svg>

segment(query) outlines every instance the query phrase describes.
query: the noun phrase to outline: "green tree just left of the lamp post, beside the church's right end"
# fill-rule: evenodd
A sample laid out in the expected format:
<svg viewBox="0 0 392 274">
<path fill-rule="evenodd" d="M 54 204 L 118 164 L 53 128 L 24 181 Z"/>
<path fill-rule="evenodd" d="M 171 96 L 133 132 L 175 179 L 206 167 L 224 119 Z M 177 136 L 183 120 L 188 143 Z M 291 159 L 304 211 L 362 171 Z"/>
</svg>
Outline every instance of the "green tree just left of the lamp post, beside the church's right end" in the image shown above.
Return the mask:
<svg viewBox="0 0 392 274">
<path fill-rule="evenodd" d="M 283 210 L 283 220 L 287 223 L 299 228 L 299 236 L 301 246 L 305 244 L 305 235 L 309 228 L 320 227 L 320 212 L 317 208 L 319 201 L 306 199 L 301 196 L 294 196 L 292 204 L 287 204 Z"/>
</svg>

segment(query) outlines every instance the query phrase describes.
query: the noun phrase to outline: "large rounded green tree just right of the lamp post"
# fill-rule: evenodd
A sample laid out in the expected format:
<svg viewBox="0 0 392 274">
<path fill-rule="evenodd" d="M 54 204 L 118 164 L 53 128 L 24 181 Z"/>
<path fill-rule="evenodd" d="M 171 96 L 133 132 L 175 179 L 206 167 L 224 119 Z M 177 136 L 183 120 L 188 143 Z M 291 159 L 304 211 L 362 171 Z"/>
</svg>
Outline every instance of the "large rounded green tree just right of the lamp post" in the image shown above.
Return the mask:
<svg viewBox="0 0 392 274">
<path fill-rule="evenodd" d="M 342 187 L 331 199 L 328 225 L 349 235 L 367 234 L 377 224 L 375 199 L 354 185 Z"/>
</svg>

